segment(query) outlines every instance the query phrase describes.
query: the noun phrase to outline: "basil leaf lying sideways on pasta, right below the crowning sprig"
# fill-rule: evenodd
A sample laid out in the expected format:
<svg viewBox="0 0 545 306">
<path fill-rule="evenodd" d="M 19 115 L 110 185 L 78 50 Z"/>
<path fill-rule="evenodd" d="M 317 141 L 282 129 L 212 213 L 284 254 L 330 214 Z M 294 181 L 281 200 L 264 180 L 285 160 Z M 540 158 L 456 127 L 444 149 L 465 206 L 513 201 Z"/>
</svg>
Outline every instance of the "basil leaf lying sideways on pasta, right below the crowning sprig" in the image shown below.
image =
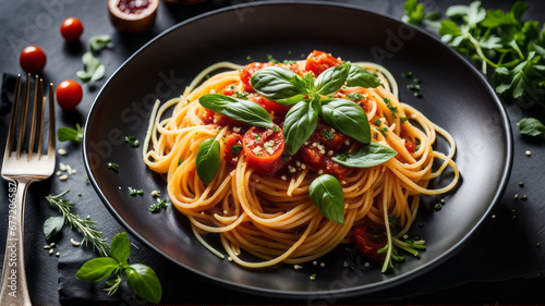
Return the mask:
<svg viewBox="0 0 545 306">
<path fill-rule="evenodd" d="M 331 159 L 348 168 L 370 168 L 395 157 L 398 152 L 377 143 L 371 143 L 351 154 L 340 154 Z"/>
</svg>

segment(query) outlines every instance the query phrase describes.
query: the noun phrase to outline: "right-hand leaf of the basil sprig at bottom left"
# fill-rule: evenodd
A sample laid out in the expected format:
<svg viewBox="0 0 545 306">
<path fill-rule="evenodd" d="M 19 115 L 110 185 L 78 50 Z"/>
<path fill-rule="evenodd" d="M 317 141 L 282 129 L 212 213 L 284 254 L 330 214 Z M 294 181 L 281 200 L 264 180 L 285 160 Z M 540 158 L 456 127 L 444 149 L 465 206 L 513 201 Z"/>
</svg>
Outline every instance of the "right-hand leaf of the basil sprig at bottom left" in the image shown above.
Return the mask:
<svg viewBox="0 0 545 306">
<path fill-rule="evenodd" d="M 126 284 L 136 295 L 154 304 L 161 301 L 161 283 L 152 268 L 134 264 L 126 268 L 125 276 Z"/>
</svg>

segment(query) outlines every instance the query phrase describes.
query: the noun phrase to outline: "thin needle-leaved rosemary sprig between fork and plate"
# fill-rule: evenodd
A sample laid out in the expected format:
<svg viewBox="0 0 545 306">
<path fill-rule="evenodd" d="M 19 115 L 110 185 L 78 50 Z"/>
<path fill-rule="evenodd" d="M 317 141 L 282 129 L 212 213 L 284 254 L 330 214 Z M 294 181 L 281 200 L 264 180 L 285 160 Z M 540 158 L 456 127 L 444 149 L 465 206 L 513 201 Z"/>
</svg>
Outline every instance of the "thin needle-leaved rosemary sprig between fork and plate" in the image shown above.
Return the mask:
<svg viewBox="0 0 545 306">
<path fill-rule="evenodd" d="M 56 207 L 64 217 L 64 221 L 70 223 L 71 228 L 75 228 L 82 235 L 85 245 L 90 244 L 93 249 L 98 252 L 100 256 L 108 256 L 110 253 L 110 245 L 106 243 L 106 238 L 102 237 L 102 232 L 99 232 L 92 227 L 96 224 L 89 218 L 82 218 L 78 215 L 72 212 L 74 207 L 72 203 L 62 200 L 62 196 L 68 194 L 70 191 L 65 191 L 59 195 L 48 195 L 45 196 L 46 200 L 51 207 Z"/>
</svg>

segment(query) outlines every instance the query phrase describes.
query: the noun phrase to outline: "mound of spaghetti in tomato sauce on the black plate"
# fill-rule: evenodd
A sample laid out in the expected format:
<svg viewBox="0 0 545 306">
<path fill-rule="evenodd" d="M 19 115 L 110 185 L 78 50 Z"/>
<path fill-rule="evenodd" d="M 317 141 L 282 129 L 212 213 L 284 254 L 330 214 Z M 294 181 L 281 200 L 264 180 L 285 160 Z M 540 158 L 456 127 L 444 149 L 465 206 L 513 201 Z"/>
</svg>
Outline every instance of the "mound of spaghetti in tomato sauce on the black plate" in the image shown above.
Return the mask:
<svg viewBox="0 0 545 306">
<path fill-rule="evenodd" d="M 272 65 L 258 63 L 253 68 Z M 305 61 L 283 66 L 302 76 L 312 74 Z M 380 85 L 374 88 L 344 85 L 335 91 L 335 97 L 353 98 L 365 111 L 372 143 L 396 152 L 393 158 L 373 167 L 344 168 L 331 161 L 335 156 L 366 145 L 323 122 L 296 154 L 290 155 L 283 149 L 278 167 L 256 167 L 246 148 L 240 148 L 246 145 L 241 140 L 243 132 L 253 127 L 213 113 L 199 103 L 199 98 L 208 94 L 240 96 L 253 101 L 263 99 L 244 83 L 247 66 L 228 62 L 214 64 L 197 75 L 183 95 L 156 109 L 143 151 L 144 161 L 153 171 L 166 173 L 170 200 L 189 218 L 196 235 L 218 233 L 229 257 L 251 268 L 319 258 L 339 244 L 352 243 L 353 230 L 368 222 L 386 231 L 385 262 L 395 256 L 393 246 L 409 248 L 402 236 L 416 218 L 421 194 L 444 194 L 458 182 L 460 174 L 453 161 L 456 144 L 447 131 L 398 100 L 396 82 L 386 69 L 363 62 L 352 66 L 377 75 Z M 211 76 L 207 78 L 207 75 Z M 170 110 L 172 113 L 167 114 Z M 268 109 L 268 114 L 276 126 L 283 127 L 286 114 L 281 110 Z M 320 135 L 319 131 L 326 134 Z M 448 142 L 447 154 L 434 150 L 437 134 Z M 330 143 L 338 140 L 335 137 L 343 142 L 331 148 Z M 220 145 L 220 167 L 211 182 L 205 184 L 195 164 L 199 146 L 209 138 Z M 235 138 L 234 143 L 228 144 L 229 138 Z M 268 149 L 266 145 L 264 148 Z M 314 159 L 316 156 L 319 161 Z M 437 160 L 440 166 L 434 167 Z M 453 170 L 451 182 L 444 187 L 428 188 L 431 180 L 440 176 L 447 167 Z M 324 173 L 336 176 L 341 185 L 341 223 L 326 218 L 311 199 L 311 184 Z M 252 258 L 245 258 L 243 250 L 253 255 Z"/>
</svg>

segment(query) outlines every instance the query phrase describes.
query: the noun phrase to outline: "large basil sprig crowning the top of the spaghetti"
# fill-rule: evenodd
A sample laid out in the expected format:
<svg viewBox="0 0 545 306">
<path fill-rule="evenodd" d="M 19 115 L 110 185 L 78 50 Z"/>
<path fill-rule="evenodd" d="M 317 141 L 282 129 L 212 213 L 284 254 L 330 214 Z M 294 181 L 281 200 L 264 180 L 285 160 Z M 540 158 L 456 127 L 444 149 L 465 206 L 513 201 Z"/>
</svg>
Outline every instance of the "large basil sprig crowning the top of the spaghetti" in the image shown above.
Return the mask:
<svg viewBox="0 0 545 306">
<path fill-rule="evenodd" d="M 372 81 L 373 78 L 376 76 L 365 69 L 346 63 L 327 69 L 316 79 L 312 74 L 301 77 L 286 69 L 269 66 L 252 74 L 250 82 L 255 91 L 274 102 L 296 102 L 293 110 L 286 115 L 283 126 L 286 149 L 290 155 L 294 155 L 314 132 L 310 128 L 316 127 L 318 117 L 348 136 L 368 144 L 371 127 L 362 108 L 351 100 L 327 97 L 344 84 L 378 86 L 378 78 Z M 316 111 L 318 115 L 315 115 Z"/>
</svg>

